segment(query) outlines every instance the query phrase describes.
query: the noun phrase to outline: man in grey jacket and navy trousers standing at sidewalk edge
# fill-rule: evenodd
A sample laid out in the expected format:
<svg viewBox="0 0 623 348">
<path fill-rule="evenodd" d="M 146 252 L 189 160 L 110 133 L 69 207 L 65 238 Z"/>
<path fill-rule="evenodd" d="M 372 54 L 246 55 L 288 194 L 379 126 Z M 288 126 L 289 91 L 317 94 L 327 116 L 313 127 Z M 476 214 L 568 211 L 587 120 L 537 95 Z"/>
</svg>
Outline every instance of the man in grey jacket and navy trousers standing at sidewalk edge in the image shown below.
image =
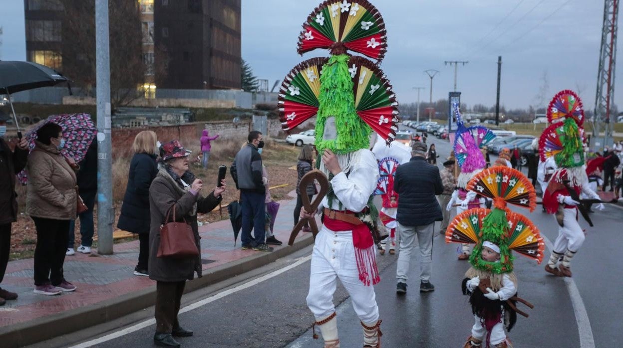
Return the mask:
<svg viewBox="0 0 623 348">
<path fill-rule="evenodd" d="M 259 252 L 272 252 L 273 249 L 265 242 L 266 189 L 262 156 L 257 151 L 261 148 L 264 148 L 262 133 L 250 131 L 247 146 L 235 155 L 230 172 L 242 200 L 242 250 L 252 248 Z M 254 237 L 251 237 L 251 230 Z"/>
</svg>

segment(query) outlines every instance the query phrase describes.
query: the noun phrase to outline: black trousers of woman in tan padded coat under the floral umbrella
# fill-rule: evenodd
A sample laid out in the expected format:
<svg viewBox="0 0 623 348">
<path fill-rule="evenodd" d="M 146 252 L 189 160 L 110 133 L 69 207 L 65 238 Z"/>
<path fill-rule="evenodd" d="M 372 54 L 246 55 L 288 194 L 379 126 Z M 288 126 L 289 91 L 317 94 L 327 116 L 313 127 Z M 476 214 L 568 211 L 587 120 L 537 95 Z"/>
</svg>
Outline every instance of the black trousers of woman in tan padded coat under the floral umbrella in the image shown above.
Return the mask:
<svg viewBox="0 0 623 348">
<path fill-rule="evenodd" d="M 32 217 L 37 228 L 35 247 L 35 285 L 52 283 L 57 286 L 63 281 L 63 263 L 67 252 L 67 230 L 69 220 Z"/>
</svg>

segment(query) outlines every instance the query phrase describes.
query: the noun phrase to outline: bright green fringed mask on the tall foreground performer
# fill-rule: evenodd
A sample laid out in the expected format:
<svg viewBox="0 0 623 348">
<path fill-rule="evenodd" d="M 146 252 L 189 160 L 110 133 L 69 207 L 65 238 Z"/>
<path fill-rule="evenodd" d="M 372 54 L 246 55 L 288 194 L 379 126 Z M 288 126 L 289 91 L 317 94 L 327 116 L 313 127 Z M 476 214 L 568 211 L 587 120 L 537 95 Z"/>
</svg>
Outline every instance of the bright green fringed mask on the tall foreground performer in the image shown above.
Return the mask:
<svg viewBox="0 0 623 348">
<path fill-rule="evenodd" d="M 355 111 L 348 59 L 346 54 L 332 55 L 322 68 L 315 143 L 319 153 L 330 149 L 345 154 L 369 147 L 372 128 Z"/>
</svg>

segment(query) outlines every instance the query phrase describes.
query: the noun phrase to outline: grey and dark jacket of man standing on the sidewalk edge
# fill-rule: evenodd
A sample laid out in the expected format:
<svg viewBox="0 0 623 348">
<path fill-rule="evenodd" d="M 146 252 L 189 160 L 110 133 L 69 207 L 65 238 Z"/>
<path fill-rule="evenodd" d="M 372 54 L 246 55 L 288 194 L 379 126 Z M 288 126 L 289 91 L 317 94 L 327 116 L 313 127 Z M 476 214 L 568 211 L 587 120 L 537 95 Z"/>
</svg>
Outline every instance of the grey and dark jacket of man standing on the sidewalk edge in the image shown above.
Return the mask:
<svg viewBox="0 0 623 348">
<path fill-rule="evenodd" d="M 262 182 L 262 156 L 252 144 L 247 144 L 238 151 L 229 172 L 237 189 L 265 194 Z"/>
</svg>

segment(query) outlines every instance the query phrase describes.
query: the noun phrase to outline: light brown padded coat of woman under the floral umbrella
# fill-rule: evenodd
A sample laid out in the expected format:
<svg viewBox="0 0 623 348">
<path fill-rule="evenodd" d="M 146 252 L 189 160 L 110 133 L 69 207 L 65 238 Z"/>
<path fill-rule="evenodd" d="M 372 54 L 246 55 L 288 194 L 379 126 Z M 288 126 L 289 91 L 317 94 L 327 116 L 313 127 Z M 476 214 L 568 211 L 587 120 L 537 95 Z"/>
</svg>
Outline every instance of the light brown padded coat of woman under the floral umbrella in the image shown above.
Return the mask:
<svg viewBox="0 0 623 348">
<path fill-rule="evenodd" d="M 35 141 L 26 170 L 26 214 L 44 219 L 74 220 L 76 174 L 56 146 Z"/>
</svg>

